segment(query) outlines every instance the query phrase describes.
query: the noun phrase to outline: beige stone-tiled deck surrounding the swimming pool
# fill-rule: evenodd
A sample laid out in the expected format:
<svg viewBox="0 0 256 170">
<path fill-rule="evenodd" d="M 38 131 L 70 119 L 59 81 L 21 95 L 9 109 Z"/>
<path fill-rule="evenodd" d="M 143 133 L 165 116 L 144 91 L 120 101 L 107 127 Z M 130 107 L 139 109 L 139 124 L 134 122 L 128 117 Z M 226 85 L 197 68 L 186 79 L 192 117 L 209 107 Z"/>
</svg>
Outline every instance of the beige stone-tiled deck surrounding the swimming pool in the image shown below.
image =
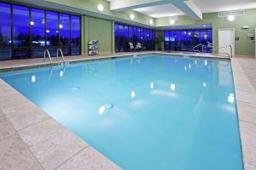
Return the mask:
<svg viewBox="0 0 256 170">
<path fill-rule="evenodd" d="M 124 55 L 131 53 L 67 57 L 67 60 L 105 59 Z M 245 170 L 256 170 L 256 59 L 233 58 L 231 63 Z M 0 71 L 32 65 L 45 65 L 45 62 L 43 59 L 1 61 Z M 0 169 L 121 168 L 0 79 Z"/>
</svg>

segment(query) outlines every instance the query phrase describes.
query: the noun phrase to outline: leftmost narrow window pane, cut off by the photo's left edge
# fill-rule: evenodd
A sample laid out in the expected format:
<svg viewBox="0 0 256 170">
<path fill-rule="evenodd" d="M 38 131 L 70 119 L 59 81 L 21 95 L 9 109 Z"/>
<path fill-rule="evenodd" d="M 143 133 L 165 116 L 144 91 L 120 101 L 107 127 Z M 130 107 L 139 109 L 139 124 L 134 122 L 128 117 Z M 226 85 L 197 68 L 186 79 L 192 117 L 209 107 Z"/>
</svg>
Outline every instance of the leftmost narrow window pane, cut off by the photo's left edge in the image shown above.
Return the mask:
<svg viewBox="0 0 256 170">
<path fill-rule="evenodd" d="M 0 3 L 0 60 L 11 59 L 10 5 Z"/>
</svg>

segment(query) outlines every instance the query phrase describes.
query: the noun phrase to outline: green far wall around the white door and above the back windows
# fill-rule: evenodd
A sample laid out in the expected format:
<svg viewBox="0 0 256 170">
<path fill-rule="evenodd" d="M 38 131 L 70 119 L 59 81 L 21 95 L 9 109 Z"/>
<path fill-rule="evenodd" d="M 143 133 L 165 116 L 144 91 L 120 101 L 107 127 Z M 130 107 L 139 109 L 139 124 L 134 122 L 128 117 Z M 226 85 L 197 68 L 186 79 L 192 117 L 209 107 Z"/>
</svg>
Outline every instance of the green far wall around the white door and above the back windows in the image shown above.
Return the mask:
<svg viewBox="0 0 256 170">
<path fill-rule="evenodd" d="M 256 9 L 247 9 L 246 15 L 236 16 L 236 20 L 228 21 L 225 18 L 219 18 L 218 13 L 203 14 L 203 20 L 190 20 L 187 16 L 178 16 L 175 26 L 183 25 L 202 25 L 212 24 L 213 48 L 218 47 L 218 29 L 235 28 L 236 37 L 239 41 L 235 42 L 236 55 L 254 56 L 255 42 L 247 37 L 248 34 L 255 34 L 256 27 Z M 160 18 L 155 20 L 156 26 L 170 26 L 168 18 Z M 242 30 L 241 26 L 250 26 L 248 30 Z"/>
</svg>

